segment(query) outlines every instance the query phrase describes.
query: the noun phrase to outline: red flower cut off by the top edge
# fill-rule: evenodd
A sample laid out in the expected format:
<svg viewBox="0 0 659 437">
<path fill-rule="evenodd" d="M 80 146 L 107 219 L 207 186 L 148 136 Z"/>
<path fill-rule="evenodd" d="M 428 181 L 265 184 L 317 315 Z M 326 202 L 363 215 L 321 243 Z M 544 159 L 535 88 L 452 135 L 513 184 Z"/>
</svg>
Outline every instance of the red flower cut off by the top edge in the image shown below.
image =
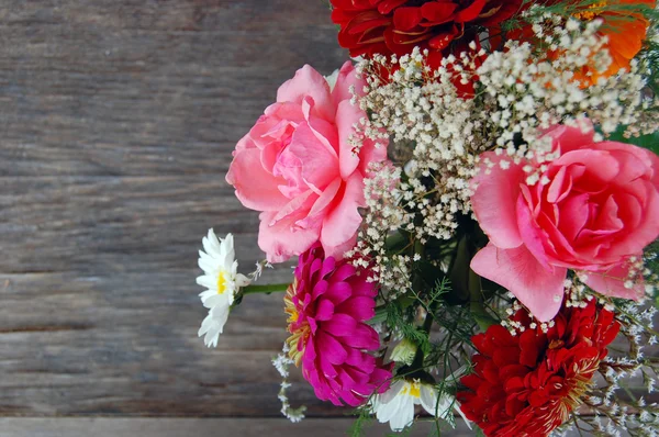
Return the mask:
<svg viewBox="0 0 659 437">
<path fill-rule="evenodd" d="M 420 46 L 436 61 L 451 48 L 462 52 L 481 29 L 511 18 L 522 0 L 332 0 L 332 21 L 340 26 L 338 43 L 350 56 L 400 56 Z M 455 46 L 460 38 L 460 47 Z"/>
</svg>

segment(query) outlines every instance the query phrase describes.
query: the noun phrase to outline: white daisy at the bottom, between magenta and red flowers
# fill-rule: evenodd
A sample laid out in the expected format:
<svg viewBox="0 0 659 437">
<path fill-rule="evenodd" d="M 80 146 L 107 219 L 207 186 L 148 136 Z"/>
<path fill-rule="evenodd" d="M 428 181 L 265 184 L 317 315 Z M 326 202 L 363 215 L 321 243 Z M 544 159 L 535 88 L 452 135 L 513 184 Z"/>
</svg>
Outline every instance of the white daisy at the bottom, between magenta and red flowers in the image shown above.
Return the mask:
<svg viewBox="0 0 659 437">
<path fill-rule="evenodd" d="M 437 390 L 433 385 L 417 379 L 395 381 L 387 392 L 376 395 L 371 404 L 378 421 L 382 424 L 389 422 L 393 432 L 403 430 L 414 421 L 414 406 L 420 404 L 435 417 L 447 418 L 453 414 L 451 406 L 462 415 L 455 397 L 443 394 L 438 399 Z"/>
</svg>

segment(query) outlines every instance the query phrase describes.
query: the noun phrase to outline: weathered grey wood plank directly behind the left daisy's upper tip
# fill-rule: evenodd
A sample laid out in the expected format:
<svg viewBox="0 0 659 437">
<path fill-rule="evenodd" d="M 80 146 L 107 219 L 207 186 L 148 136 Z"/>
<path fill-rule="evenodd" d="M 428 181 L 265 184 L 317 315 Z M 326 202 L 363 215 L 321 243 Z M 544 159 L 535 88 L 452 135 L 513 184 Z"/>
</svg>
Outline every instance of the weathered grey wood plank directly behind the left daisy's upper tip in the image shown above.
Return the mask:
<svg viewBox="0 0 659 437">
<path fill-rule="evenodd" d="M 258 216 L 223 175 L 0 178 L 0 272 L 157 277 L 197 264 L 209 227 L 236 235 L 241 261 L 264 255 Z"/>
</svg>

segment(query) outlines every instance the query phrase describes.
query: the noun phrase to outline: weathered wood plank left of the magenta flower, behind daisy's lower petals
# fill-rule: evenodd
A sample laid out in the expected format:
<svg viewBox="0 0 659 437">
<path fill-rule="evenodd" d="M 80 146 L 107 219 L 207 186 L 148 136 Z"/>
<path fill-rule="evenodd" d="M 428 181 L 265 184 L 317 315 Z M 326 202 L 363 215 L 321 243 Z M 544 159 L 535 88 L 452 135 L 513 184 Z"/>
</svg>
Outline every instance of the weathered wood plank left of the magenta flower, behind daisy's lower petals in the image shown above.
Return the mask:
<svg viewBox="0 0 659 437">
<path fill-rule="evenodd" d="M 278 416 L 281 295 L 249 296 L 206 349 L 193 277 L 0 274 L 0 415 Z M 342 413 L 306 383 L 291 399 Z"/>
</svg>

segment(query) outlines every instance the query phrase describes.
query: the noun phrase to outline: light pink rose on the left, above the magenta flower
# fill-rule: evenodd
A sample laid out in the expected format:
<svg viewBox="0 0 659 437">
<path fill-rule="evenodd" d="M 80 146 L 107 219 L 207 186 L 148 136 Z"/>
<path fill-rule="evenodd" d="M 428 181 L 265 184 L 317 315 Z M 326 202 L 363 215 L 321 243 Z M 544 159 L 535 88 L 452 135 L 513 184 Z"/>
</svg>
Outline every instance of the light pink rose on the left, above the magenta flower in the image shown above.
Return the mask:
<svg viewBox="0 0 659 437">
<path fill-rule="evenodd" d="M 353 153 L 354 125 L 367 114 L 350 103 L 349 88 L 362 92 L 365 85 L 349 61 L 333 90 L 306 65 L 236 145 L 226 181 L 243 205 L 263 211 L 258 245 L 270 262 L 319 240 L 337 259 L 354 247 L 368 165 L 387 157 L 384 146 L 368 139 Z"/>
</svg>

